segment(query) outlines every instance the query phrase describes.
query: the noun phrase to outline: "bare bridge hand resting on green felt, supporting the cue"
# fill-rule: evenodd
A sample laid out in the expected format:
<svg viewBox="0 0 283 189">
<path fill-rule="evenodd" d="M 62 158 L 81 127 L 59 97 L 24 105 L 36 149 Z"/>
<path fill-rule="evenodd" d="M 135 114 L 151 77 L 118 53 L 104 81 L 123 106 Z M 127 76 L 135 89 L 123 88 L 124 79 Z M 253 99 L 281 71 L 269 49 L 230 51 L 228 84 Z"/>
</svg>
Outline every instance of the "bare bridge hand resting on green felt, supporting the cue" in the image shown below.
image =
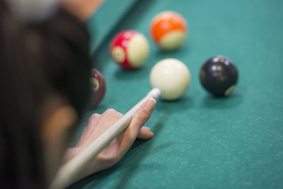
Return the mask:
<svg viewBox="0 0 283 189">
<path fill-rule="evenodd" d="M 142 127 L 142 125 L 149 120 L 155 105 L 156 101 L 153 98 L 141 105 L 141 108 L 134 114 L 127 129 L 110 142 L 110 144 L 93 159 L 91 164 L 80 174 L 78 180 L 115 165 L 122 159 L 122 156 L 129 150 L 136 138 L 151 139 L 154 133 L 149 130 L 149 127 Z M 105 130 L 108 130 L 108 128 L 121 117 L 122 114 L 113 109 L 106 110 L 102 115 L 93 114 L 88 120 L 88 125 L 83 130 L 78 144 L 76 144 L 76 147 L 68 149 L 64 161 L 68 161 L 76 156 L 76 154 L 91 144 L 93 140 L 98 138 Z"/>
</svg>

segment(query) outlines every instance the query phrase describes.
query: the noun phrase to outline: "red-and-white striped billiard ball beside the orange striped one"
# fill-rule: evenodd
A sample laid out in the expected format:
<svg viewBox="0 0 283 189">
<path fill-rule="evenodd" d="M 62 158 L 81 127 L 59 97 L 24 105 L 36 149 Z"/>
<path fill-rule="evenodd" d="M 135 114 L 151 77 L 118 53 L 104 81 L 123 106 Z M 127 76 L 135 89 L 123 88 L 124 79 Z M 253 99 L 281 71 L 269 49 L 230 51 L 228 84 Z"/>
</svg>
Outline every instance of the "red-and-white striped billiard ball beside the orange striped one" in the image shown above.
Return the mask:
<svg viewBox="0 0 283 189">
<path fill-rule="evenodd" d="M 110 55 L 123 69 L 138 69 L 149 56 L 149 42 L 141 33 L 125 30 L 112 39 Z"/>
</svg>

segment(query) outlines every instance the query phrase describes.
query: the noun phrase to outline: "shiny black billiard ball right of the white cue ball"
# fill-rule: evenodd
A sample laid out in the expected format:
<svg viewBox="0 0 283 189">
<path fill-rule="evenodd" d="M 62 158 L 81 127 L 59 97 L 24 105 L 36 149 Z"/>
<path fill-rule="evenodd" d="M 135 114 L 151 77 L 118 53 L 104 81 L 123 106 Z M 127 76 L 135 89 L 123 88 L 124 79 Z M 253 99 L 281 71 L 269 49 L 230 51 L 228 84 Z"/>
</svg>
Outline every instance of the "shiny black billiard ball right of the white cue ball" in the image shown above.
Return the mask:
<svg viewBox="0 0 283 189">
<path fill-rule="evenodd" d="M 202 65 L 200 81 L 214 96 L 228 96 L 236 87 L 238 70 L 228 57 L 212 57 Z"/>
</svg>

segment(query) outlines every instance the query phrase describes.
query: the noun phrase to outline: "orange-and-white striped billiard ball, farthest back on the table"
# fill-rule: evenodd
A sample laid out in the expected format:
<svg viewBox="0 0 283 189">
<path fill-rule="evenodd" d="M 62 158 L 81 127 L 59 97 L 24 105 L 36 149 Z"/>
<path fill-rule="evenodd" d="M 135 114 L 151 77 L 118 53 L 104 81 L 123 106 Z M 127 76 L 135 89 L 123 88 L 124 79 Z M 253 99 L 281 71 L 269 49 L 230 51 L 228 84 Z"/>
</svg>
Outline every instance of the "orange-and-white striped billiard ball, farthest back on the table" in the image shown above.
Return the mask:
<svg viewBox="0 0 283 189">
<path fill-rule="evenodd" d="M 175 50 L 185 40 L 187 23 L 183 16 L 173 11 L 158 13 L 151 21 L 151 38 L 156 44 L 166 51 Z"/>
</svg>

